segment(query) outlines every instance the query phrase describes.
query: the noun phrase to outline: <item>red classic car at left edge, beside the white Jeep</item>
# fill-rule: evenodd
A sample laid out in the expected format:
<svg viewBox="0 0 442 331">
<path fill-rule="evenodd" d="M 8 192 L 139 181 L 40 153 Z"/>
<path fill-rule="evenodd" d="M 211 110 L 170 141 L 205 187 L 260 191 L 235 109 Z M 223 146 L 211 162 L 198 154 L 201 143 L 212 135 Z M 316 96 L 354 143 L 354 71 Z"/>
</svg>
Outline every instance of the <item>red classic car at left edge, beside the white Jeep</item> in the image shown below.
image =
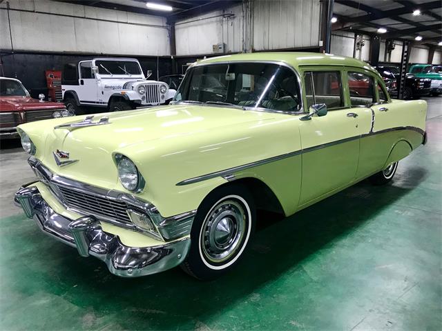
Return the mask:
<svg viewBox="0 0 442 331">
<path fill-rule="evenodd" d="M 63 103 L 32 99 L 18 79 L 0 77 L 0 139 L 19 137 L 21 123 L 73 116 Z"/>
</svg>

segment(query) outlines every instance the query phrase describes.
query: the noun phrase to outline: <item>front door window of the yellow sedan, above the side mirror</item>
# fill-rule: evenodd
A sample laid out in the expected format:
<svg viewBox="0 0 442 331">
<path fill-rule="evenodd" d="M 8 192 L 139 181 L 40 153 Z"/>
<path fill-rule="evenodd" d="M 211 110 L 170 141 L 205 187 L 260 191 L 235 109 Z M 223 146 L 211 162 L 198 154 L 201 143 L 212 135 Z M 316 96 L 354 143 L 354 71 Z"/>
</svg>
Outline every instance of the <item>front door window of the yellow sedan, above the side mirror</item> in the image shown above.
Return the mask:
<svg viewBox="0 0 442 331">
<path fill-rule="evenodd" d="M 344 106 L 340 72 L 312 71 L 305 73 L 307 109 L 316 103 L 325 103 L 327 108 Z"/>
</svg>

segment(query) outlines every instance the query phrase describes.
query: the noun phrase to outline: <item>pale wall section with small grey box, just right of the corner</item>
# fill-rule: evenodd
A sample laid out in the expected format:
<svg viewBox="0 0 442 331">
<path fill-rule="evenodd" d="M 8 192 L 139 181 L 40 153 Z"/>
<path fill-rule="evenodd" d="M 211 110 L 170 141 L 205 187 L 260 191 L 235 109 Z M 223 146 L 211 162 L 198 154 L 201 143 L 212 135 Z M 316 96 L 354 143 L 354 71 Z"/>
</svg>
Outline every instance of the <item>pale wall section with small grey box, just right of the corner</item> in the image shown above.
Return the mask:
<svg viewBox="0 0 442 331">
<path fill-rule="evenodd" d="M 175 23 L 177 55 L 210 54 L 226 43 L 226 52 L 242 51 L 242 5 Z"/>
</svg>

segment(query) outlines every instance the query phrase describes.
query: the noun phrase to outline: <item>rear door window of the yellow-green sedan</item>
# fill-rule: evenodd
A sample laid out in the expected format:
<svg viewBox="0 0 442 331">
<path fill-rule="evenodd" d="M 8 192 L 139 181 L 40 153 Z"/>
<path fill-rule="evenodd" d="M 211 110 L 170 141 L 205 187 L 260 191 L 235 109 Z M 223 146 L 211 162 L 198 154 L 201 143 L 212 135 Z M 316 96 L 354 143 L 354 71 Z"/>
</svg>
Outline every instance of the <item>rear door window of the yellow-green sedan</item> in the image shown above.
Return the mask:
<svg viewBox="0 0 442 331">
<path fill-rule="evenodd" d="M 348 87 L 352 106 L 368 106 L 376 102 L 373 79 L 361 72 L 348 72 Z"/>
</svg>

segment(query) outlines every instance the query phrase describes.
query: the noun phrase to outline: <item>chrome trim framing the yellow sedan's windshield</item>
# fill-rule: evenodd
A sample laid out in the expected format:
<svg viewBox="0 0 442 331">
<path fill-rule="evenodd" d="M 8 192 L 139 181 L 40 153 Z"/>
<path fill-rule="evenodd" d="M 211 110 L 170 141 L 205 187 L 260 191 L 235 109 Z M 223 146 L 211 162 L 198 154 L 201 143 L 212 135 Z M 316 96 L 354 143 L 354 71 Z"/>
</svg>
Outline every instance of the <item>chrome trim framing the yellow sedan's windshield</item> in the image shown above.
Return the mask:
<svg viewBox="0 0 442 331">
<path fill-rule="evenodd" d="M 284 61 L 269 61 L 269 60 L 266 60 L 266 61 L 260 61 L 260 60 L 219 61 L 219 62 L 211 62 L 211 63 L 195 63 L 191 67 L 189 67 L 189 70 L 191 68 L 194 68 L 194 67 L 213 66 L 213 65 L 218 65 L 218 64 L 229 65 L 229 64 L 232 64 L 232 63 L 235 63 L 235 64 L 237 64 L 237 63 L 267 63 L 267 64 L 275 64 L 277 66 L 282 66 L 282 67 L 285 67 L 285 68 L 289 68 L 292 72 L 294 72 L 294 74 L 296 76 L 296 81 L 298 82 L 298 86 L 297 86 L 298 93 L 299 93 L 298 97 L 300 99 L 299 110 L 296 110 L 296 111 L 293 111 L 293 110 L 291 110 L 291 111 L 289 111 L 289 110 L 276 110 L 276 109 L 269 109 L 269 108 L 262 108 L 262 107 L 260 107 L 260 108 L 244 107 L 244 110 L 257 110 L 257 111 L 261 111 L 261 112 L 278 112 L 278 113 L 290 114 L 290 115 L 305 114 L 306 110 L 304 109 L 304 94 L 302 94 L 302 82 L 301 82 L 301 79 L 300 79 L 300 74 L 299 74 L 298 70 L 296 70 L 296 68 L 294 66 L 291 66 L 287 62 L 284 62 Z M 186 75 L 187 75 L 187 73 L 186 73 Z M 184 79 L 181 81 L 181 83 L 183 81 L 184 81 Z M 180 84 L 180 86 L 181 86 L 181 84 Z M 177 101 L 177 102 L 181 102 L 181 101 Z M 185 102 L 185 101 L 182 101 L 182 102 Z M 208 106 L 213 106 L 213 105 L 209 104 Z M 224 106 L 224 108 L 225 107 L 228 107 L 228 106 Z"/>
</svg>

